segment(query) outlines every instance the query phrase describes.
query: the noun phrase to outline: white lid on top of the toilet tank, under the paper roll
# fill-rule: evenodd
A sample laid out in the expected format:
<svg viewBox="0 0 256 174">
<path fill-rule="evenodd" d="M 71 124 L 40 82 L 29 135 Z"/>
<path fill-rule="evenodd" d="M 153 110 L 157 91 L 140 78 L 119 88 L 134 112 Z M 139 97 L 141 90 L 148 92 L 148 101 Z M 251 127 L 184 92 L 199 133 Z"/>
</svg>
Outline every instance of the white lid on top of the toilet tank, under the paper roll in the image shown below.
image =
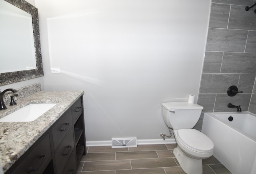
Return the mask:
<svg viewBox="0 0 256 174">
<path fill-rule="evenodd" d="M 168 103 L 162 103 L 162 106 L 168 110 L 203 109 L 203 107 L 198 104 L 188 103 L 188 102 L 168 102 Z"/>
</svg>

